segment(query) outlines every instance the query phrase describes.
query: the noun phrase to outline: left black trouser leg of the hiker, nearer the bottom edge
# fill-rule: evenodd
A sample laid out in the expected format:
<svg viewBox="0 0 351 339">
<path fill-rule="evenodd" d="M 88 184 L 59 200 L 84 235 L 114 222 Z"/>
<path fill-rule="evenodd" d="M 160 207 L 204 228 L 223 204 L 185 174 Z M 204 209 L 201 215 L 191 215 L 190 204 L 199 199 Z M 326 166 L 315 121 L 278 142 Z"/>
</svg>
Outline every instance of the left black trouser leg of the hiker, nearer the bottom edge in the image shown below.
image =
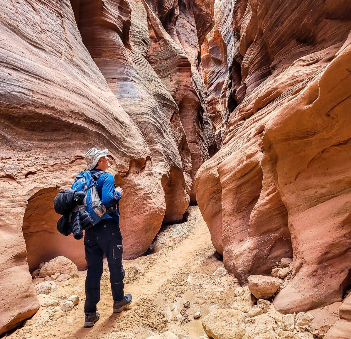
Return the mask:
<svg viewBox="0 0 351 339">
<path fill-rule="evenodd" d="M 85 279 L 84 311 L 86 313 L 95 312 L 96 305 L 100 301 L 100 280 L 103 270 L 104 251 L 97 243 L 94 227 L 87 229 L 84 236 L 85 260 L 88 269 Z"/>
</svg>

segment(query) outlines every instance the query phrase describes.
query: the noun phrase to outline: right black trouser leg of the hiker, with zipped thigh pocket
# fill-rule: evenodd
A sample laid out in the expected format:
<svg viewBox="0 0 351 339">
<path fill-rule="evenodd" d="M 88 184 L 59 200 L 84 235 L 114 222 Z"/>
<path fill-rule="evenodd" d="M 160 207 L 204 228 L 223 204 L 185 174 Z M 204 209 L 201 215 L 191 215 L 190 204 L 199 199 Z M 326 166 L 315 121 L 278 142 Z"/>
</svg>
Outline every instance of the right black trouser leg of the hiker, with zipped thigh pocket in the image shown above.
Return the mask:
<svg viewBox="0 0 351 339">
<path fill-rule="evenodd" d="M 100 229 L 98 244 L 104 250 L 110 271 L 112 298 L 120 301 L 124 297 L 124 269 L 122 265 L 122 236 L 118 224 L 113 219 L 104 219 Z"/>
</svg>

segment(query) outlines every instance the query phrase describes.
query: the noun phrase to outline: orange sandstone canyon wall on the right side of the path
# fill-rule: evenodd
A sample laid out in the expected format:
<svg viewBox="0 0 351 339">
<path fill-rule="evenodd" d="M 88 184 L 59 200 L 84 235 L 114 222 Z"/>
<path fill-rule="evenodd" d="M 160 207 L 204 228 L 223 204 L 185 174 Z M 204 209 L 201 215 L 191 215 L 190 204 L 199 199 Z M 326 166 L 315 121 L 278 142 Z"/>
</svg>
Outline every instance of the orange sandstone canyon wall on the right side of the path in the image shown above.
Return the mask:
<svg viewBox="0 0 351 339">
<path fill-rule="evenodd" d="M 351 284 L 350 13 L 346 0 L 218 0 L 203 45 L 222 145 L 197 201 L 241 283 L 293 258 L 274 299 L 284 313 L 341 301 Z"/>
</svg>

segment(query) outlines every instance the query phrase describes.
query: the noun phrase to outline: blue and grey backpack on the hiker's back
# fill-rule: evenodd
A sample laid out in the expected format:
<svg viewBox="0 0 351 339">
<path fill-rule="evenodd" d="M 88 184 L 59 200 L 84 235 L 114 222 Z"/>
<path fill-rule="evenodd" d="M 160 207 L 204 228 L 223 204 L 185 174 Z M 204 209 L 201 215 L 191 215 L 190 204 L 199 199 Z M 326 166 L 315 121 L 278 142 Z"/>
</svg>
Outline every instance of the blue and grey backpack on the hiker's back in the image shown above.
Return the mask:
<svg viewBox="0 0 351 339">
<path fill-rule="evenodd" d="M 101 198 L 99 197 L 98 191 L 95 187 L 97 180 L 102 173 L 105 172 L 100 171 L 95 174 L 87 170 L 84 172 L 79 172 L 74 178 L 71 187 L 71 189 L 86 192 L 83 205 L 77 205 L 74 211 L 87 211 L 93 219 L 92 223 L 94 225 L 101 221 L 102 217 L 106 213 L 106 207 L 102 204 Z"/>
</svg>

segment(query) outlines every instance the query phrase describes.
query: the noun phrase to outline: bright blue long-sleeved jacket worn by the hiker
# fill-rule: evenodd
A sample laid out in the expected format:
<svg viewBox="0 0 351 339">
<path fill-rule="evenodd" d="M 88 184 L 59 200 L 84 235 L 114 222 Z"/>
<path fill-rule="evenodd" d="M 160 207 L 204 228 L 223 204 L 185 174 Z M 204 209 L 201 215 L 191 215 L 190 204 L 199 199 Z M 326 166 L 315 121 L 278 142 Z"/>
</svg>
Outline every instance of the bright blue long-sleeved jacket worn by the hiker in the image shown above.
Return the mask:
<svg viewBox="0 0 351 339">
<path fill-rule="evenodd" d="M 101 170 L 93 169 L 91 172 L 97 173 L 101 172 Z M 101 202 L 105 207 L 116 205 L 122 197 L 120 192 L 115 192 L 114 178 L 110 173 L 104 172 L 100 174 L 95 187 L 98 191 L 99 197 L 101 198 Z M 82 181 L 74 183 L 71 189 L 82 191 L 84 190 L 84 183 Z M 115 212 L 109 214 L 106 213 L 102 217 L 102 219 L 111 218 L 113 218 L 119 224 L 119 209 L 116 209 Z"/>
</svg>

